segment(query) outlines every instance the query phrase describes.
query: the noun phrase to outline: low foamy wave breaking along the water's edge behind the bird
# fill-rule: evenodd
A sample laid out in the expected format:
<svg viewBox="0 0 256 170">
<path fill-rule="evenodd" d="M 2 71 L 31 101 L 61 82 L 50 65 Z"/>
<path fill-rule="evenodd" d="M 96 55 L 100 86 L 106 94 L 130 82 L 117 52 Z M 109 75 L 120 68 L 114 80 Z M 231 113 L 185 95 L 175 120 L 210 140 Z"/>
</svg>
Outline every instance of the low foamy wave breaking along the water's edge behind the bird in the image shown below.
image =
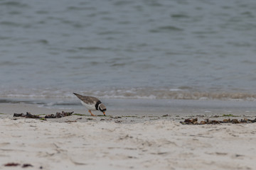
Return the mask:
<svg viewBox="0 0 256 170">
<path fill-rule="evenodd" d="M 256 101 L 256 94 L 240 91 L 194 91 L 193 89 L 105 89 L 91 91 L 74 91 L 71 89 L 32 89 L 29 91 L 1 90 L 0 98 L 75 98 L 73 92 L 85 96 L 100 98 L 138 98 L 138 99 L 180 99 L 180 100 L 230 100 L 230 101 Z"/>
</svg>

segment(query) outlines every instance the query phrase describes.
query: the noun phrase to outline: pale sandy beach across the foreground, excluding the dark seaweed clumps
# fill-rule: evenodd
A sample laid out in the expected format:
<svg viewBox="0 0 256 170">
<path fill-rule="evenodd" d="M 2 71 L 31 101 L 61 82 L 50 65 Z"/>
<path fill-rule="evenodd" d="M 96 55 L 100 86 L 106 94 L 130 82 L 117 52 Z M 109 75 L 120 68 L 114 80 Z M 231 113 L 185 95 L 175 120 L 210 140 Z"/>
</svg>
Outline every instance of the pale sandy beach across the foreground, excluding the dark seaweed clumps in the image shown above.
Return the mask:
<svg viewBox="0 0 256 170">
<path fill-rule="evenodd" d="M 58 109 L 0 106 L 0 169 L 255 169 L 255 123 L 181 125 L 176 115 L 38 120 L 11 113 Z"/>
</svg>

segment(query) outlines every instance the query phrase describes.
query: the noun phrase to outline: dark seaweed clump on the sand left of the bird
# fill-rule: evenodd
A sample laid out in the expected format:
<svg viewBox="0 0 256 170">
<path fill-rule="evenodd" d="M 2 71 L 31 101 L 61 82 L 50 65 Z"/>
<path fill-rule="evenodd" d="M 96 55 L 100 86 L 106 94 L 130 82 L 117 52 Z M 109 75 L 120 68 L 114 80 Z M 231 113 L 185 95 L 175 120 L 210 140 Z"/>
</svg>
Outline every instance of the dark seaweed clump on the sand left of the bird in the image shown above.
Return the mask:
<svg viewBox="0 0 256 170">
<path fill-rule="evenodd" d="M 44 117 L 41 117 L 40 115 L 32 115 L 31 113 L 27 112 L 26 115 L 23 113 L 14 113 L 14 117 L 23 117 L 23 118 L 38 118 L 40 120 L 46 120 L 46 118 L 63 118 L 65 116 L 70 116 L 72 115 L 74 112 L 64 112 L 62 111 L 61 113 L 55 113 L 54 114 L 50 114 L 50 115 L 46 115 Z"/>
</svg>

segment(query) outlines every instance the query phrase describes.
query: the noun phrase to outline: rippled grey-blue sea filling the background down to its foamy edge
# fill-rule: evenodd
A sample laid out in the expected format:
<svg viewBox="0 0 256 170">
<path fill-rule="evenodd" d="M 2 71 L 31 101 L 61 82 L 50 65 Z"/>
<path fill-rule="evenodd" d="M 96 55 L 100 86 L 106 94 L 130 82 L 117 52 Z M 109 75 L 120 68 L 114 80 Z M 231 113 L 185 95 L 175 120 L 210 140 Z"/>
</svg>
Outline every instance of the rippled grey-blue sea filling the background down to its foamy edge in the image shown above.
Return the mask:
<svg viewBox="0 0 256 170">
<path fill-rule="evenodd" d="M 255 101 L 255 54 L 255 0 L 0 1 L 0 98 Z"/>
</svg>

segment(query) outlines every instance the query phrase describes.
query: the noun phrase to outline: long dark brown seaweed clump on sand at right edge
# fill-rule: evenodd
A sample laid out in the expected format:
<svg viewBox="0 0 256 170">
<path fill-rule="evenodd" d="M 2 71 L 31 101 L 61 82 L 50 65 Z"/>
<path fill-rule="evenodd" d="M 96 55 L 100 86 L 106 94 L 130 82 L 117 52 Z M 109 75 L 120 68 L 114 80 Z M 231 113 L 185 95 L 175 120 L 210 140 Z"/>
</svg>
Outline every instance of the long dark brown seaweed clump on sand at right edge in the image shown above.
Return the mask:
<svg viewBox="0 0 256 170">
<path fill-rule="evenodd" d="M 247 118 L 242 118 L 241 120 L 238 119 L 224 119 L 224 120 L 209 120 L 205 119 L 198 123 L 198 118 L 188 118 L 185 119 L 183 122 L 180 122 L 182 125 L 216 125 L 220 123 L 233 123 L 233 124 L 238 124 L 238 123 L 256 123 L 256 118 L 254 120 L 250 120 Z"/>
</svg>

